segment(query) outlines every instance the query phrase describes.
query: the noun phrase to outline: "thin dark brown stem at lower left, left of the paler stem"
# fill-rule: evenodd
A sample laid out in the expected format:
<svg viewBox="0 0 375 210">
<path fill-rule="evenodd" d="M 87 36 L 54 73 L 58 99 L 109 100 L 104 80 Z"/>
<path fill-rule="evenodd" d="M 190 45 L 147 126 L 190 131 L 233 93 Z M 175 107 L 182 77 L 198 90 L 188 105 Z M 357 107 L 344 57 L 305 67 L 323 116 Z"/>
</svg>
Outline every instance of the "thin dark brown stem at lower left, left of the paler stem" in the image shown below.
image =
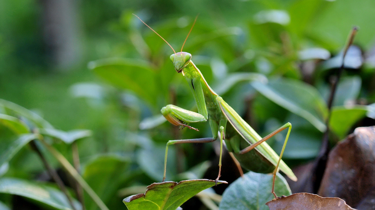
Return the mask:
<svg viewBox="0 0 375 210">
<path fill-rule="evenodd" d="M 35 143 L 35 140 L 32 140 L 30 143 L 31 148 L 36 152 L 39 156 L 40 160 L 42 160 L 44 167 L 47 169 L 49 176 L 56 182 L 58 188 L 65 194 L 66 198 L 68 198 L 69 204 L 72 206 L 72 209 L 77 210 L 74 206 L 73 198 L 69 194 L 68 190 L 66 189 L 63 180 L 61 180 L 60 176 L 58 176 L 57 172 L 49 165 L 47 159 L 44 157 L 43 153 L 40 151 L 38 146 Z"/>
</svg>

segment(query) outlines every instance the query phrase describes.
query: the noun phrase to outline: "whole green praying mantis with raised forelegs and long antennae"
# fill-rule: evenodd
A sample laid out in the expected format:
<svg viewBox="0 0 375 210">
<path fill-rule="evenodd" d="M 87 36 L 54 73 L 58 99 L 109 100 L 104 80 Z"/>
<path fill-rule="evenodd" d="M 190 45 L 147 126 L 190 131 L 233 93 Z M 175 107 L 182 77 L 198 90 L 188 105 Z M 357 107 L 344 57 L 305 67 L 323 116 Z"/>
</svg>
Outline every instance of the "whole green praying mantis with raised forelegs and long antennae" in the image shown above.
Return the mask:
<svg viewBox="0 0 375 210">
<path fill-rule="evenodd" d="M 136 17 L 141 20 L 138 16 Z M 143 23 L 145 24 L 145 22 Z M 154 31 L 147 24 L 145 25 Z M 190 28 L 189 34 L 193 26 Z M 154 32 L 156 33 L 156 31 Z M 158 33 L 156 34 L 159 35 Z M 189 37 L 189 34 L 187 34 L 187 37 Z M 297 180 L 297 177 L 292 170 L 281 160 L 291 131 L 291 123 L 286 123 L 284 126 L 281 126 L 266 137 L 261 138 L 261 136 L 258 135 L 258 133 L 255 132 L 255 130 L 252 129 L 252 127 L 249 126 L 249 124 L 246 123 L 233 108 L 231 108 L 231 106 L 229 106 L 219 95 L 217 95 L 217 93 L 214 92 L 214 90 L 211 89 L 202 73 L 191 60 L 192 55 L 187 52 L 182 52 L 187 37 L 181 47 L 181 52 L 177 53 L 162 36 L 159 35 L 159 37 L 172 48 L 174 54 L 170 56 L 170 60 L 172 61 L 175 70 L 185 77 L 193 93 L 196 106 L 198 107 L 198 113 L 196 113 L 170 104 L 161 109 L 162 114 L 166 120 L 173 125 L 188 127 L 189 129 L 194 130 L 197 129 L 189 126 L 189 123 L 208 121 L 212 131 L 212 138 L 168 141 L 165 149 L 163 181 L 165 180 L 169 145 L 178 143 L 206 143 L 220 140 L 219 173 L 215 180 L 217 183 L 221 172 L 221 157 L 224 140 L 228 151 L 233 153 L 234 157 L 239 161 L 242 167 L 257 173 L 273 173 L 272 193 L 275 198 L 277 198 L 274 187 L 275 177 L 278 170 L 284 172 L 290 179 L 294 181 Z M 288 129 L 288 133 L 279 157 L 279 155 L 277 155 L 265 141 L 285 129 Z"/>
</svg>

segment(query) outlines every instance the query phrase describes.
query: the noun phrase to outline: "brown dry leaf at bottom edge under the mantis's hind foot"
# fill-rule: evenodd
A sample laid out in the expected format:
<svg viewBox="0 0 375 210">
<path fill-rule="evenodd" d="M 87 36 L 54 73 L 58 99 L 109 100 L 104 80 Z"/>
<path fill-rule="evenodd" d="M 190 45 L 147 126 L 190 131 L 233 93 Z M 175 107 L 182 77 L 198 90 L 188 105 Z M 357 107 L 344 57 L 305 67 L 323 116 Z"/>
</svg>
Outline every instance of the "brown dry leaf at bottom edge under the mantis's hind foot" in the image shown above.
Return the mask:
<svg viewBox="0 0 375 210">
<path fill-rule="evenodd" d="M 267 203 L 270 210 L 354 210 L 340 198 L 322 198 L 310 193 L 296 193 Z"/>
</svg>

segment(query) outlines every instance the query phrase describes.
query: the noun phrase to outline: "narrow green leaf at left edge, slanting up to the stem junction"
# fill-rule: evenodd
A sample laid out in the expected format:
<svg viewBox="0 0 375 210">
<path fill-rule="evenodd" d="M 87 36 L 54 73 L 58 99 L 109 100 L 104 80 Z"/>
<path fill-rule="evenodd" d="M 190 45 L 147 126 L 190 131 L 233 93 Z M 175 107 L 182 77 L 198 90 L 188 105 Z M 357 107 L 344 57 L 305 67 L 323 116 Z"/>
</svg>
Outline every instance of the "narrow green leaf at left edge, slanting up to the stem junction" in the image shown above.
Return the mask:
<svg viewBox="0 0 375 210">
<path fill-rule="evenodd" d="M 20 151 L 20 149 L 23 148 L 28 142 L 38 138 L 39 135 L 33 133 L 17 136 L 17 139 L 10 143 L 7 148 L 4 150 L 1 149 L 0 166 L 12 159 L 12 157 L 17 154 L 17 152 Z"/>
</svg>

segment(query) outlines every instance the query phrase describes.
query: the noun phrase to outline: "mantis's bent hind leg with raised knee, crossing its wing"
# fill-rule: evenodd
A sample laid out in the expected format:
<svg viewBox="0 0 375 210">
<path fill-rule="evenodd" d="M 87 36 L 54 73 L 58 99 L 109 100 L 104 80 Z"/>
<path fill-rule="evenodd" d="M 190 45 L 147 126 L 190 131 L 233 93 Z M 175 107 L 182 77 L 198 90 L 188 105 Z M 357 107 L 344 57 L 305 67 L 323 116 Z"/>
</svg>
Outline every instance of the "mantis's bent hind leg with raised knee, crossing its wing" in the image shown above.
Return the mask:
<svg viewBox="0 0 375 210">
<path fill-rule="evenodd" d="M 277 195 L 275 193 L 275 179 L 276 179 L 276 173 L 278 172 L 278 168 L 279 168 L 279 164 L 280 164 L 280 161 L 281 161 L 281 157 L 282 155 L 284 154 L 284 150 L 285 150 L 285 146 L 287 145 L 287 142 L 288 142 L 288 138 L 289 138 L 289 135 L 290 135 L 290 130 L 292 128 L 292 124 L 291 123 L 286 123 L 284 126 L 281 126 L 279 129 L 275 130 L 274 132 L 270 133 L 269 135 L 267 135 L 266 137 L 264 137 L 263 139 L 259 140 L 257 143 L 254 143 L 248 147 L 246 147 L 245 149 L 242 149 L 240 151 L 240 154 L 245 154 L 246 152 L 249 152 L 251 151 L 252 149 L 254 149 L 255 147 L 257 147 L 258 145 L 260 145 L 261 143 L 265 142 L 266 140 L 270 139 L 272 136 L 275 136 L 277 133 L 281 132 L 282 130 L 285 130 L 288 128 L 288 133 L 287 133 L 287 136 L 285 137 L 285 140 L 284 140 L 284 145 L 282 146 L 282 149 L 281 149 L 281 152 L 280 152 L 280 156 L 279 156 L 279 160 L 278 160 L 278 163 L 276 164 L 275 166 L 275 170 L 273 171 L 273 179 L 272 179 L 272 194 L 275 196 L 275 198 L 277 198 Z"/>
</svg>

